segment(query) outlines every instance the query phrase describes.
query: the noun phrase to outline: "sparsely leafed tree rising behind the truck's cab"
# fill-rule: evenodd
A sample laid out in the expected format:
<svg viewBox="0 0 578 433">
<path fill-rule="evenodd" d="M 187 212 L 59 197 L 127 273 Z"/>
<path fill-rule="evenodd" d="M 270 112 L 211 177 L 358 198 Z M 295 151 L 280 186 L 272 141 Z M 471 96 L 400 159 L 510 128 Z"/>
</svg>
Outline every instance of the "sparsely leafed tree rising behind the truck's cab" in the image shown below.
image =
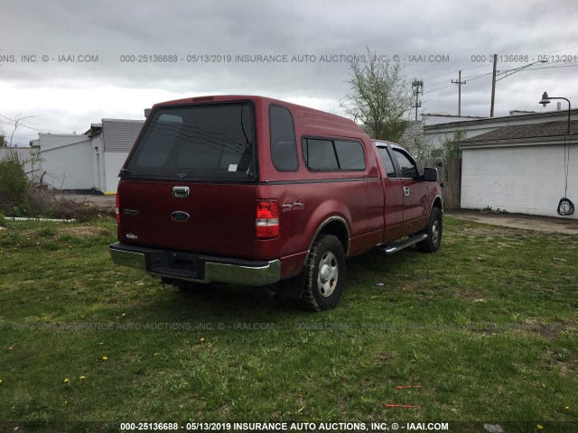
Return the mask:
<svg viewBox="0 0 578 433">
<path fill-rule="evenodd" d="M 364 60 L 350 63 L 351 93 L 340 106 L 373 138 L 396 142 L 408 125 L 411 88 L 399 61 L 382 60 L 369 49 Z"/>
</svg>

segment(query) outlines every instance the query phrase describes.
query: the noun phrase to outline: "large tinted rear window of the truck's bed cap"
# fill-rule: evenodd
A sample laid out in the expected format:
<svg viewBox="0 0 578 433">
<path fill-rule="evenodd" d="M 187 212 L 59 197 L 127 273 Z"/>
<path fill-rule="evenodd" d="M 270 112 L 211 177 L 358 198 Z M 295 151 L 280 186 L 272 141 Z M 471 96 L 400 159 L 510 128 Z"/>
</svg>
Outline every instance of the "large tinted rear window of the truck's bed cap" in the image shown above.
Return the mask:
<svg viewBox="0 0 578 433">
<path fill-rule="evenodd" d="M 126 175 L 254 179 L 254 115 L 248 103 L 161 107 L 152 115 Z"/>
</svg>

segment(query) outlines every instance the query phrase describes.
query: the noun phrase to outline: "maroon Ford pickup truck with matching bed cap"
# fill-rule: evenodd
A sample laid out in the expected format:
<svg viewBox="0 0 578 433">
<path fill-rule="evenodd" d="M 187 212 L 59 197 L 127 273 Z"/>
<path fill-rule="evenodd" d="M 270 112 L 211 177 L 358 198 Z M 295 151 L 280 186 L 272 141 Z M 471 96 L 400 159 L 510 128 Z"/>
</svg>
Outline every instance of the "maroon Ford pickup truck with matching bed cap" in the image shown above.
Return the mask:
<svg viewBox="0 0 578 433">
<path fill-rule="evenodd" d="M 339 115 L 267 97 L 153 106 L 120 170 L 115 263 L 331 309 L 345 259 L 442 240 L 437 170 Z"/>
</svg>

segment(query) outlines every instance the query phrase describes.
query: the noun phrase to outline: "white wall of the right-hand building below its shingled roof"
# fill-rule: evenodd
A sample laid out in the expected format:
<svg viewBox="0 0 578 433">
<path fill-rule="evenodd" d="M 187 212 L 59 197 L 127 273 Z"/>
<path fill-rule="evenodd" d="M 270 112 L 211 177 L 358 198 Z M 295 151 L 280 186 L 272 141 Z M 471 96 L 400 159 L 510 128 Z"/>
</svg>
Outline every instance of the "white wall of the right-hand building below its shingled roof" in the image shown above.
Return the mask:
<svg viewBox="0 0 578 433">
<path fill-rule="evenodd" d="M 578 153 L 570 150 L 568 198 L 578 206 Z M 562 144 L 463 149 L 461 207 L 558 217 L 564 197 Z M 577 214 L 573 218 L 578 218 Z"/>
</svg>

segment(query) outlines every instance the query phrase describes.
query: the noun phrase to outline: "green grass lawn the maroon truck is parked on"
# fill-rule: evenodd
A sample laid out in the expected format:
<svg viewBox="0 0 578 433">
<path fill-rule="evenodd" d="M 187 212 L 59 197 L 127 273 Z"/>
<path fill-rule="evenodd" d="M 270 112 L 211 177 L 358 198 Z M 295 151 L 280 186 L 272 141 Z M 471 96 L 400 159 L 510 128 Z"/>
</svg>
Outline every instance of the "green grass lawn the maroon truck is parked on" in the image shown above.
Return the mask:
<svg viewBox="0 0 578 433">
<path fill-rule="evenodd" d="M 578 236 L 444 223 L 314 314 L 117 267 L 109 219 L 7 222 L 0 421 L 576 421 Z"/>
</svg>

